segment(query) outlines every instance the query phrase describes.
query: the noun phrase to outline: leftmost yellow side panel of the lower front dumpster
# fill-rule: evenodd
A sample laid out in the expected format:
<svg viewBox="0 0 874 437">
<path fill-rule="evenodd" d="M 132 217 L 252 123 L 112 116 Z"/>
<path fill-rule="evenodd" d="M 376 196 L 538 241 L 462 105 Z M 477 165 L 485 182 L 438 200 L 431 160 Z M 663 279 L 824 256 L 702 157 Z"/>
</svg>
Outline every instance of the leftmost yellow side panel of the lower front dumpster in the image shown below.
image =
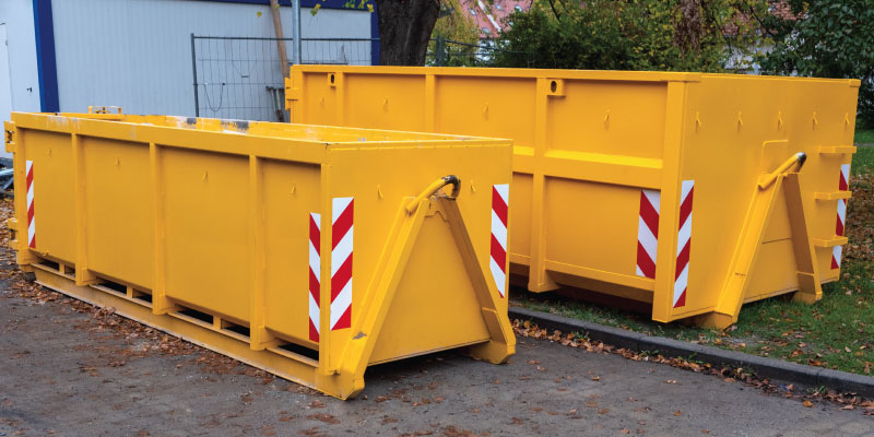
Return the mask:
<svg viewBox="0 0 874 437">
<path fill-rule="evenodd" d="M 19 132 L 25 160 L 33 162 L 36 251 L 72 265 L 75 262 L 72 139 L 66 133 L 32 129 Z"/>
</svg>

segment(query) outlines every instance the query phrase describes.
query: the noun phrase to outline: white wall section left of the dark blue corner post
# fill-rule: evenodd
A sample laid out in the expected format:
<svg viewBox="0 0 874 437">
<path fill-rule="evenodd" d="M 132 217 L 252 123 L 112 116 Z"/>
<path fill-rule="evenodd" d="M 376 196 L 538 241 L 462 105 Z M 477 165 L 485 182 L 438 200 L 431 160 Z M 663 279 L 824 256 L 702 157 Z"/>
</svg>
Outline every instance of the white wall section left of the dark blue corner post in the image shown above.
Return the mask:
<svg viewBox="0 0 874 437">
<path fill-rule="evenodd" d="M 36 64 L 33 0 L 0 0 L 0 23 L 7 25 L 12 110 L 39 110 L 39 70 Z M 0 114 L 2 120 L 9 115 Z"/>
</svg>

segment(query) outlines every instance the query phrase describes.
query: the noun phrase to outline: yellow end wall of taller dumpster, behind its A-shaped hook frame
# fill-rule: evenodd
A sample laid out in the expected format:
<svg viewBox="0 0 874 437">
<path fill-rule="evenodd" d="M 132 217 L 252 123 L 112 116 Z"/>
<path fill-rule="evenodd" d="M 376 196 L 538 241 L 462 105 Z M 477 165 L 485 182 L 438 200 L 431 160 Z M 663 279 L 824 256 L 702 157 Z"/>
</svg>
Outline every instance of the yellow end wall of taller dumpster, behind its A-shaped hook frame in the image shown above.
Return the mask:
<svg viewBox="0 0 874 437">
<path fill-rule="evenodd" d="M 857 91 L 847 81 L 731 75 L 705 75 L 688 86 L 680 179 L 695 180 L 695 196 L 683 312 L 713 306 L 709 291 L 720 290 L 730 273 L 758 177 L 794 153 L 807 155 L 799 180 L 811 237 L 835 238 L 837 201 L 817 200 L 815 193 L 838 190 L 840 165 L 849 164 L 850 155 L 826 155 L 819 147 L 852 144 Z M 782 190 L 751 271 L 746 300 L 798 290 L 788 217 Z M 822 281 L 837 279 L 831 248 L 815 250 Z"/>
</svg>

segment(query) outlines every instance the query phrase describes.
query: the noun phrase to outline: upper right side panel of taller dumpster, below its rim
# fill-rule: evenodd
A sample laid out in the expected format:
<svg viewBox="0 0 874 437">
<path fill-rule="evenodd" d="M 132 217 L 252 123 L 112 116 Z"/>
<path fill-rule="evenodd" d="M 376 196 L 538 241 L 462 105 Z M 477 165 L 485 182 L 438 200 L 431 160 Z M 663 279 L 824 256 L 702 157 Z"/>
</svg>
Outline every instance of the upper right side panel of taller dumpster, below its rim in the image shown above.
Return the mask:
<svg viewBox="0 0 874 437">
<path fill-rule="evenodd" d="M 661 160 L 664 83 L 566 80 L 564 86 L 565 97 L 550 98 L 548 150 Z"/>
</svg>

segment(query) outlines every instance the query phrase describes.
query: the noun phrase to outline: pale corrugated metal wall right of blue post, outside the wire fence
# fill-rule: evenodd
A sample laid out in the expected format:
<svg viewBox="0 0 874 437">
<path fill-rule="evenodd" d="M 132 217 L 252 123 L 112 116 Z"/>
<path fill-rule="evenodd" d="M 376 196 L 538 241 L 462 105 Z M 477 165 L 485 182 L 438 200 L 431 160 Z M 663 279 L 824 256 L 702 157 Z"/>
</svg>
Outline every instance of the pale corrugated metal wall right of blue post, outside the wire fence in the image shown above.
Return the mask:
<svg viewBox="0 0 874 437">
<path fill-rule="evenodd" d="M 63 111 L 84 111 L 88 105 L 114 105 L 128 114 L 193 116 L 192 33 L 274 36 L 267 5 L 76 0 L 55 1 L 52 8 Z M 292 36 L 291 8 L 281 11 L 285 36 Z M 322 9 L 312 15 L 304 9 L 302 21 L 304 38 L 370 37 L 370 15 L 366 11 Z M 291 60 L 291 44 L 287 49 Z M 275 70 L 279 68 L 276 63 Z"/>
</svg>

